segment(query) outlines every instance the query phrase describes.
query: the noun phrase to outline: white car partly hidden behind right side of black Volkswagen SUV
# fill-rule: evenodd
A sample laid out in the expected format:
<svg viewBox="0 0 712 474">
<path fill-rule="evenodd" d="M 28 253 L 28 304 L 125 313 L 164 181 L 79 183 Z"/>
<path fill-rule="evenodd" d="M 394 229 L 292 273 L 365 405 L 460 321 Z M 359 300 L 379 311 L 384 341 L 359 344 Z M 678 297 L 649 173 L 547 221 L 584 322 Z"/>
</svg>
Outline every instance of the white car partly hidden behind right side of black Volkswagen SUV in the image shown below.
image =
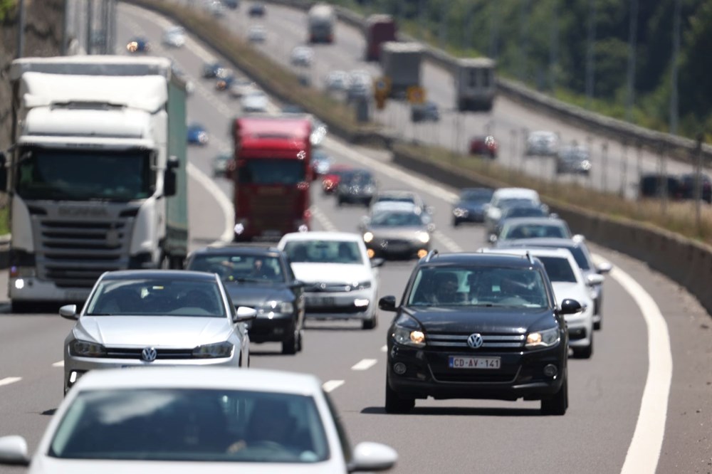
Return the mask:
<svg viewBox="0 0 712 474">
<path fill-rule="evenodd" d="M 576 300 L 582 310 L 572 315 L 565 315 L 569 330 L 569 347 L 574 357 L 589 359 L 593 354 L 593 312 L 591 287 L 603 283 L 603 275 L 584 276 L 570 251 L 564 248 L 483 248 L 483 253 L 501 253 L 506 255 L 530 256 L 538 258 L 544 264 L 558 305 L 566 299 Z"/>
</svg>

